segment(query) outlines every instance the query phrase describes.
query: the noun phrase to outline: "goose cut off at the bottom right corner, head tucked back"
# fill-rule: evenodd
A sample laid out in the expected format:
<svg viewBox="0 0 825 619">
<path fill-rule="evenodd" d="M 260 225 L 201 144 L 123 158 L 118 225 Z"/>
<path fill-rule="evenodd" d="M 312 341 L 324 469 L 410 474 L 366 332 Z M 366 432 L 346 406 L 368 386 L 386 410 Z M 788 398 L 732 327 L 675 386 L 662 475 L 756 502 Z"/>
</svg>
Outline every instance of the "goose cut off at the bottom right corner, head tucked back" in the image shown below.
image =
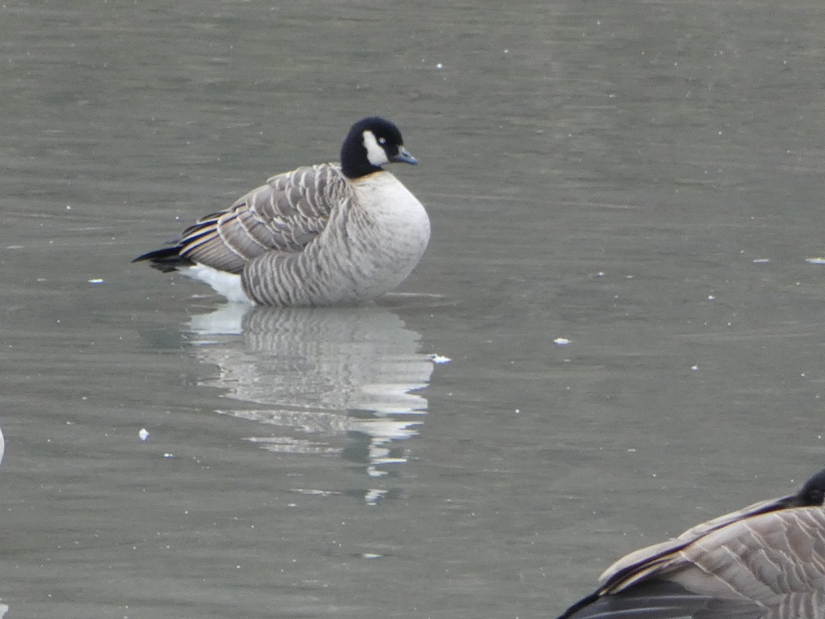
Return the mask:
<svg viewBox="0 0 825 619">
<path fill-rule="evenodd" d="M 559 619 L 823 619 L 825 470 L 797 494 L 636 550 Z"/>
</svg>

